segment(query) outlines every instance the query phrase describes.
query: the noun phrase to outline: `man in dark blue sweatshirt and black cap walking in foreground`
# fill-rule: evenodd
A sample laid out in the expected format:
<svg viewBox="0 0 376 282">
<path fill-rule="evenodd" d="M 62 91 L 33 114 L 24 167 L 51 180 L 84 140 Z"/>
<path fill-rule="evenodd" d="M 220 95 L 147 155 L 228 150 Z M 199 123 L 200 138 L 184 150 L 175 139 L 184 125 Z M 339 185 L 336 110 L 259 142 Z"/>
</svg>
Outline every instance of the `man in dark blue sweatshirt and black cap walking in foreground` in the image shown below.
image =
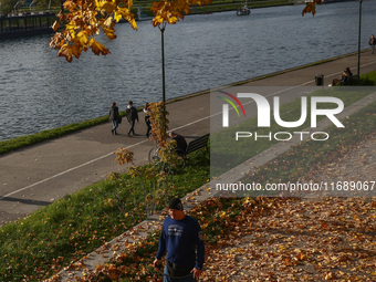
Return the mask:
<svg viewBox="0 0 376 282">
<path fill-rule="evenodd" d="M 196 281 L 202 272 L 205 244 L 200 224 L 184 213 L 180 199 L 169 201 L 169 217 L 164 221 L 154 267 L 167 252 L 164 282 Z"/>
</svg>

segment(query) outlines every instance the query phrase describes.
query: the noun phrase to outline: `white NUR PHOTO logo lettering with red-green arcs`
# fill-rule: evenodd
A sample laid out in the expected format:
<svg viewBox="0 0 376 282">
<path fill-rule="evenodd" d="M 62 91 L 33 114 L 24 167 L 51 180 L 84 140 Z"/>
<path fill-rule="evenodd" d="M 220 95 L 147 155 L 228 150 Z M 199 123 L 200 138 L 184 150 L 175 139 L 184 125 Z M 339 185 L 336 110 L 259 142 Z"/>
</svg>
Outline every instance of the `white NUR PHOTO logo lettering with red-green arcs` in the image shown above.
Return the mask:
<svg viewBox="0 0 376 282">
<path fill-rule="evenodd" d="M 300 113 L 296 113 L 296 117 L 294 121 L 284 121 L 282 118 L 283 113 L 281 113 L 281 103 L 279 96 L 273 96 L 272 106 L 270 105 L 268 98 L 261 94 L 257 93 L 237 93 L 237 95 L 232 95 L 228 92 L 220 91 L 226 94 L 228 97 L 218 96 L 226 101 L 226 104 L 222 104 L 222 127 L 230 127 L 230 114 L 229 114 L 229 105 L 237 112 L 238 117 L 240 117 L 240 113 L 238 107 L 243 112 L 244 117 L 247 116 L 246 109 L 243 107 L 244 104 L 255 104 L 257 107 L 257 124 L 258 128 L 270 128 L 272 122 L 275 122 L 282 128 L 289 128 L 290 132 L 269 132 L 268 134 L 258 134 L 258 132 L 249 132 L 249 130 L 239 130 L 236 132 L 236 140 L 240 138 L 254 138 L 258 139 L 275 139 L 275 140 L 290 140 L 293 135 L 299 135 L 301 140 L 303 140 L 303 136 L 311 136 L 313 140 L 326 140 L 328 139 L 328 134 L 325 132 L 292 132 L 292 128 L 297 128 L 306 121 L 310 122 L 311 128 L 317 127 L 317 121 L 320 116 L 327 118 L 334 124 L 336 127 L 345 127 L 341 121 L 336 117 L 344 109 L 344 103 L 338 97 L 331 96 L 301 96 L 300 97 Z M 231 100 L 230 100 L 231 98 Z M 239 101 L 239 98 L 249 98 L 249 101 L 243 102 L 243 104 Z M 234 101 L 238 106 L 236 105 Z M 310 112 L 310 113 L 309 113 Z"/>
</svg>

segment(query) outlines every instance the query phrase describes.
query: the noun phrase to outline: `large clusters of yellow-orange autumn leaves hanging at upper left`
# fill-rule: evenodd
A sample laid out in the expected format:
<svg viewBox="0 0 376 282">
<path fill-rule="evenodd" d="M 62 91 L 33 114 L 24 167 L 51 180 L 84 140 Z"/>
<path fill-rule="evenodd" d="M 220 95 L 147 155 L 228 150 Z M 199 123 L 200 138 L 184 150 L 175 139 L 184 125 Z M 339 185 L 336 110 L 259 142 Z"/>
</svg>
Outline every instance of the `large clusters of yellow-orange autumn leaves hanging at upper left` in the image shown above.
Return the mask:
<svg viewBox="0 0 376 282">
<path fill-rule="evenodd" d="M 194 6 L 210 3 L 211 0 L 165 0 L 154 2 L 152 11 L 154 27 L 175 24 L 185 14 L 190 13 Z M 116 39 L 115 24 L 122 19 L 137 30 L 135 15 L 130 12 L 133 0 L 66 0 L 64 11 L 60 11 L 53 24 L 55 31 L 50 46 L 59 50 L 59 56 L 72 62 L 80 59 L 81 53 L 91 49 L 96 55 L 106 55 L 109 50 L 96 40 L 101 30 L 109 40 Z M 60 31 L 61 30 L 61 31 Z"/>
</svg>

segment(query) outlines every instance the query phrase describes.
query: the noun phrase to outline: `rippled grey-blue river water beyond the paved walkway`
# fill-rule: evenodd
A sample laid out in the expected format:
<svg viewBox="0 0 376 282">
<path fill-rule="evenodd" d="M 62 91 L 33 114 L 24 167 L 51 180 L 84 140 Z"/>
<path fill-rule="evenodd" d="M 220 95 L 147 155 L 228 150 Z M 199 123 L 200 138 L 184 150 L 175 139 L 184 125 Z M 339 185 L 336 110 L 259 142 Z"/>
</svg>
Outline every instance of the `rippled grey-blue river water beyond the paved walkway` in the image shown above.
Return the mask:
<svg viewBox="0 0 376 282">
<path fill-rule="evenodd" d="M 166 98 L 357 51 L 358 1 L 189 15 L 165 31 Z M 376 33 L 376 1 L 363 1 L 362 49 Z M 51 35 L 0 41 L 0 140 L 161 100 L 160 31 L 118 24 L 102 42 L 107 56 L 87 51 L 67 63 L 49 48 Z M 341 71 L 341 70 L 338 70 Z"/>
</svg>

